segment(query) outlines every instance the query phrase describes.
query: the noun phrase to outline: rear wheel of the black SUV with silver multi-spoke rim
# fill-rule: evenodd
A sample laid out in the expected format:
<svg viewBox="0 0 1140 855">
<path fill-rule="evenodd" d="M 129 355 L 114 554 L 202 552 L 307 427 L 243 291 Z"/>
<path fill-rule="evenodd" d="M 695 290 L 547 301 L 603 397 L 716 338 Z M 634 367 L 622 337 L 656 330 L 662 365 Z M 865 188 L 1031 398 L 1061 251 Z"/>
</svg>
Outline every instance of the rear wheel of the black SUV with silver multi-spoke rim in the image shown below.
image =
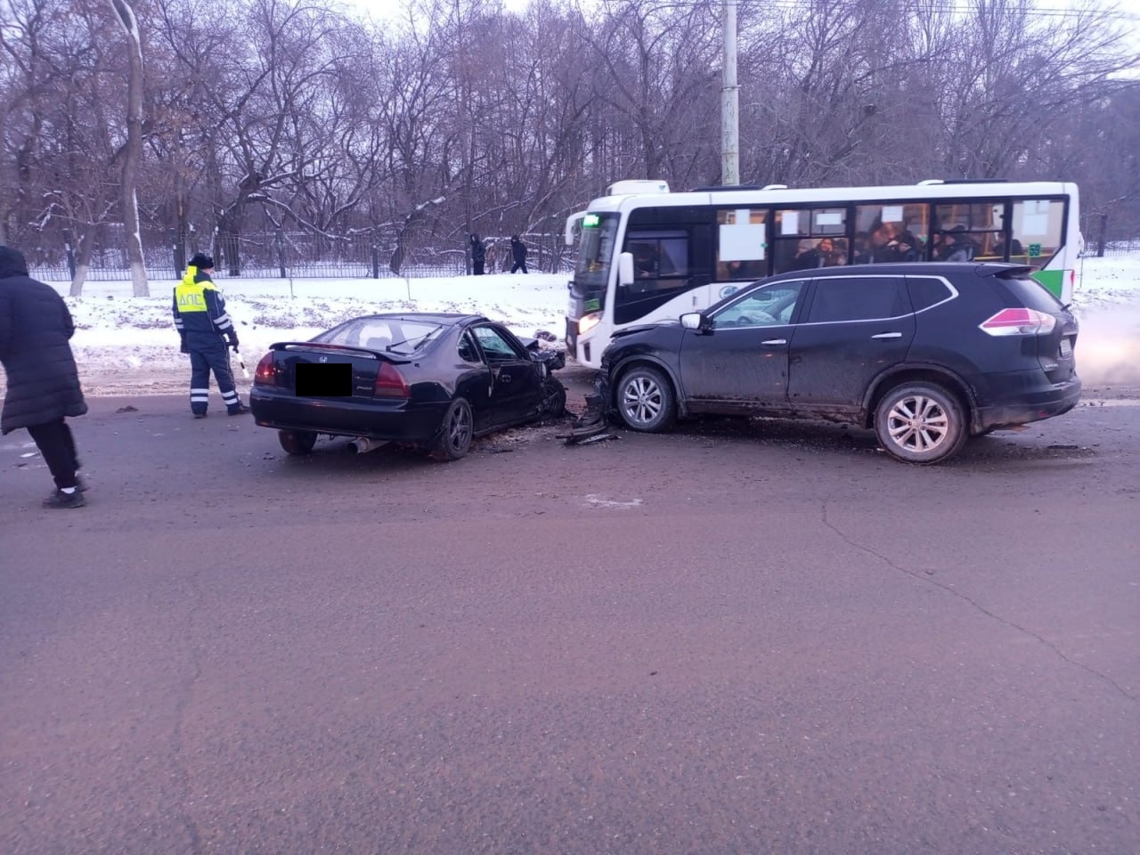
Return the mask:
<svg viewBox="0 0 1140 855">
<path fill-rule="evenodd" d="M 904 383 L 887 392 L 874 412 L 874 432 L 891 457 L 920 465 L 958 454 L 969 435 L 962 405 L 934 383 Z"/>
</svg>

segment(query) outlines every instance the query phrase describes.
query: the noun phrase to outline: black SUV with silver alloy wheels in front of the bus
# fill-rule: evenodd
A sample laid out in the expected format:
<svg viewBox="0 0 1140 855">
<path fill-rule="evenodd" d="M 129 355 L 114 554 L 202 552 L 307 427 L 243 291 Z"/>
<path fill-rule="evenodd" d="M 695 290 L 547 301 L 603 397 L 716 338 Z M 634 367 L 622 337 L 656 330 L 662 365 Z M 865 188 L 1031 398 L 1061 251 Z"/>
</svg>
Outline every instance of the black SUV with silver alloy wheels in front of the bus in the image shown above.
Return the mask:
<svg viewBox="0 0 1140 855">
<path fill-rule="evenodd" d="M 873 427 L 899 461 L 1067 413 L 1081 397 L 1067 306 L 1000 263 L 782 274 L 679 321 L 614 334 L 603 406 L 636 431 L 697 413 Z"/>
</svg>

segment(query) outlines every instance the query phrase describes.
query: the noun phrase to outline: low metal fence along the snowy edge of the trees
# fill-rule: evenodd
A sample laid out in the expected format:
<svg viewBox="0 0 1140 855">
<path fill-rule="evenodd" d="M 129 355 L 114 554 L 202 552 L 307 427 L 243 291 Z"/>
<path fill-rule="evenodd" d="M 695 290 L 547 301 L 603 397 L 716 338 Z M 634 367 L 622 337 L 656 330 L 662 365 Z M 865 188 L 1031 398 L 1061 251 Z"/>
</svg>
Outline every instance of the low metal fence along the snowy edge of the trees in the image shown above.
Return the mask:
<svg viewBox="0 0 1140 855">
<path fill-rule="evenodd" d="M 117 238 L 117 235 L 113 235 Z M 528 267 L 535 270 L 568 269 L 570 256 L 562 246 L 561 235 L 526 235 Z M 372 235 L 315 235 L 311 233 L 251 233 L 249 235 L 207 236 L 204 241 L 178 241 L 174 236 L 144 234 L 142 259 L 147 277 L 154 280 L 177 279 L 186 269 L 186 260 L 195 252 L 213 256 L 220 278 L 306 279 L 462 276 L 469 270 L 466 245 L 440 247 L 425 242 L 414 246 L 380 245 Z M 491 238 L 487 243 L 487 272 L 505 272 L 511 268 L 508 239 Z M 75 278 L 78 254 L 70 242 L 62 245 L 33 246 L 26 251 L 32 274 L 47 282 L 71 282 Z M 398 255 L 393 264 L 393 256 Z M 130 263 L 122 241 L 97 244 L 88 267 L 92 282 L 130 279 Z"/>
</svg>

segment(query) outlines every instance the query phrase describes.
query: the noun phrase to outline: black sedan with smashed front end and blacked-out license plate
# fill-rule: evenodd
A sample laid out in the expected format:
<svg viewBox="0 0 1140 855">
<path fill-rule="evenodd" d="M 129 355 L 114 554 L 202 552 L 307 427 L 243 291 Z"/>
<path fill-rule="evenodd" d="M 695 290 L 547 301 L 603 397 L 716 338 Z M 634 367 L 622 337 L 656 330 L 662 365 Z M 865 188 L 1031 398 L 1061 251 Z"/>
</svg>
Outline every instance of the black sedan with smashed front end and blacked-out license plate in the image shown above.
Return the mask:
<svg viewBox="0 0 1140 855">
<path fill-rule="evenodd" d="M 308 454 L 327 434 L 455 461 L 475 437 L 564 415 L 565 389 L 551 374 L 563 365 L 562 352 L 478 315 L 370 315 L 272 344 L 250 406 L 290 454 Z"/>
</svg>

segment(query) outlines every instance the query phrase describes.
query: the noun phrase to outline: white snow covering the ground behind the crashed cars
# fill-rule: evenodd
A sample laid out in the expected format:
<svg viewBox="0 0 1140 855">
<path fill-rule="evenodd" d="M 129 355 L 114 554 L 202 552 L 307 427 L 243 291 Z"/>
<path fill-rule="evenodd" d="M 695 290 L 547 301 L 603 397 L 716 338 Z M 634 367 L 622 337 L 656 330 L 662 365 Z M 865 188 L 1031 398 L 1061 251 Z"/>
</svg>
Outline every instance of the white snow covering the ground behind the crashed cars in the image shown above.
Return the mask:
<svg viewBox="0 0 1140 855">
<path fill-rule="evenodd" d="M 1081 262 L 1074 308 L 1081 319 L 1077 366 L 1086 385 L 1140 386 L 1140 254 Z M 565 274 L 492 274 L 412 279 L 219 278 L 250 373 L 272 342 L 306 340 L 359 315 L 382 311 L 471 312 L 532 337 L 565 329 Z M 66 283 L 52 283 L 66 295 Z M 154 280 L 155 296 L 131 296 L 130 282 L 89 282 L 67 298 L 72 341 L 91 396 L 185 391 L 189 359 L 171 320 L 174 283 Z M 235 364 L 235 369 L 237 365 Z M 239 389 L 246 389 L 237 369 Z M 0 372 L 0 391 L 3 374 Z"/>
</svg>

